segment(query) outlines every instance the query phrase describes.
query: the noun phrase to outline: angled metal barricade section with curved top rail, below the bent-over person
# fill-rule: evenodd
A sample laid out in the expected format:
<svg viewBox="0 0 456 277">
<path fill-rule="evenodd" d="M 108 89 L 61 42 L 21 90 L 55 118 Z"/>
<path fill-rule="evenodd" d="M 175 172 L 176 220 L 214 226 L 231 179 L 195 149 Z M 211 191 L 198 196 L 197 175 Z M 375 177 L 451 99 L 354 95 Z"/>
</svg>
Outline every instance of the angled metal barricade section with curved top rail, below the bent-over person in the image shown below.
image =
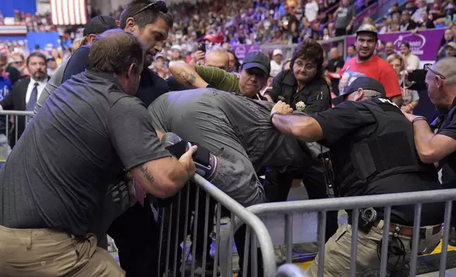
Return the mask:
<svg viewBox="0 0 456 277">
<path fill-rule="evenodd" d="M 222 207 L 231 212 L 232 221 L 239 222 L 239 226 L 241 223 L 246 225 L 244 246 L 238 245 L 241 250 L 244 250 L 244 259 L 242 260 L 244 265 L 249 264 L 249 249 L 251 249 L 249 268 L 252 269 L 253 276 L 256 276 L 257 269 L 263 270 L 262 276 L 275 276 L 276 264 L 273 243 L 261 220 L 200 175 L 195 174 L 192 180 L 193 182 L 189 182 L 170 202 L 161 203 L 159 214 L 155 215 L 159 216 L 161 225 L 159 276 L 183 277 L 188 276 L 185 274 L 188 271 L 192 277 L 195 274 L 207 276 L 207 273 L 214 277 L 218 276 L 220 254 L 227 253 L 227 257 L 231 261 L 233 250 L 231 243 L 227 248 L 220 248 L 221 230 L 227 229 L 226 227 L 222 228 L 220 223 Z M 201 217 L 203 217 L 203 221 L 200 220 Z M 209 260 L 212 261 L 211 244 L 213 240 L 210 237 L 211 232 L 215 232 L 213 264 L 208 262 Z M 230 242 L 236 235 L 239 235 L 238 233 L 234 234 L 234 229 L 227 230 L 227 234 Z M 191 240 L 187 239 L 189 235 Z M 190 249 L 188 249 L 189 246 Z M 261 249 L 263 261 L 261 268 L 256 264 L 258 261 L 257 253 L 260 252 L 258 247 Z M 191 263 L 188 263 L 190 256 Z M 196 267 L 197 261 L 198 269 Z M 243 272 L 246 276 L 247 271 Z M 232 270 L 229 275 L 232 276 Z"/>
</svg>

